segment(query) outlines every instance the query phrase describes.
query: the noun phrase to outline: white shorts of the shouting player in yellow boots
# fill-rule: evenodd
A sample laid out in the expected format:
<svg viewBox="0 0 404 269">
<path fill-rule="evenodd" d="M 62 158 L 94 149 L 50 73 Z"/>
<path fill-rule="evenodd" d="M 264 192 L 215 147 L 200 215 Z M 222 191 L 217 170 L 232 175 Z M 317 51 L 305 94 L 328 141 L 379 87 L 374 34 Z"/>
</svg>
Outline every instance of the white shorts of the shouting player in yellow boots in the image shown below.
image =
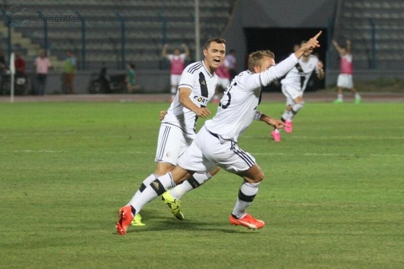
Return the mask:
<svg viewBox="0 0 404 269">
<path fill-rule="evenodd" d="M 157 141 L 155 162 L 178 164 L 178 158 L 191 145 L 196 134 L 186 134 L 178 127 L 162 123 Z"/>
</svg>

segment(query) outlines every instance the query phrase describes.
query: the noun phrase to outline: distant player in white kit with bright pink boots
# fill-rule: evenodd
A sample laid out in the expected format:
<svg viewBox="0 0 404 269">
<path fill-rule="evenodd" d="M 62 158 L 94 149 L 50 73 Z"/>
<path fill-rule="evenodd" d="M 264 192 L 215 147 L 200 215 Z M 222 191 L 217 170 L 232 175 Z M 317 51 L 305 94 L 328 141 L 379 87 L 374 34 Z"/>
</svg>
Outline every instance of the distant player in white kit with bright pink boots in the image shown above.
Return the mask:
<svg viewBox="0 0 404 269">
<path fill-rule="evenodd" d="M 300 46 L 306 41 L 302 41 Z M 316 71 L 317 78 L 324 79 L 323 63 L 312 55 L 313 50 L 306 51 L 296 63 L 294 68 L 290 70 L 286 77 L 281 80 L 282 93 L 286 96 L 286 108 L 281 120 L 285 122 L 285 131 L 292 132 L 293 118 L 296 113 L 305 105 L 303 93 L 305 92 L 307 83 L 312 76 L 313 71 Z M 281 141 L 281 133 L 279 129 L 271 132 L 272 138 L 276 142 Z"/>
</svg>

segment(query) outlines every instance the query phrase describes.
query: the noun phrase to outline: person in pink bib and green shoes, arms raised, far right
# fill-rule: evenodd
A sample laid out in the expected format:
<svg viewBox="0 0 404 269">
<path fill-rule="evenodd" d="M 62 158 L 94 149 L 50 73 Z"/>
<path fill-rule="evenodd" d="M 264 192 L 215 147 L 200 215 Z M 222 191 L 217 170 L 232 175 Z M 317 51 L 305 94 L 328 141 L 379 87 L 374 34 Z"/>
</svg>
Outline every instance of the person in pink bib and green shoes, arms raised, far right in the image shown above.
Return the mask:
<svg viewBox="0 0 404 269">
<path fill-rule="evenodd" d="M 357 90 L 354 88 L 354 82 L 352 81 L 352 75 L 354 74 L 354 68 L 352 66 L 352 54 L 351 54 L 351 46 L 350 40 L 346 40 L 346 47 L 340 47 L 338 43 L 333 40 L 332 44 L 335 49 L 338 51 L 339 56 L 341 57 L 340 61 L 340 71 L 337 80 L 338 87 L 338 98 L 334 101 L 334 103 L 342 103 L 343 102 L 343 89 L 349 89 L 355 95 L 355 103 L 361 103 L 361 96 L 357 93 Z"/>
</svg>

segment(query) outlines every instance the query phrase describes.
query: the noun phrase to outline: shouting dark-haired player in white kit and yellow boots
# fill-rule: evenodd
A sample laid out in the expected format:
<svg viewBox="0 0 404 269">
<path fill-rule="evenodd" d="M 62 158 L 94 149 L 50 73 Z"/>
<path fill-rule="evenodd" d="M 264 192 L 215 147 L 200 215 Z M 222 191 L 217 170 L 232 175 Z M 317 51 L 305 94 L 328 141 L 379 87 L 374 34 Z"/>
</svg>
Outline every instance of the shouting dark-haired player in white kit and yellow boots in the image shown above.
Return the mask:
<svg viewBox="0 0 404 269">
<path fill-rule="evenodd" d="M 204 60 L 189 64 L 183 71 L 178 93 L 161 122 L 155 158 L 157 169 L 143 180 L 128 205 L 158 176 L 174 169 L 178 157 L 188 148 L 196 136 L 195 124 L 198 117 L 205 118 L 211 114 L 206 105 L 215 93 L 218 80 L 215 70 L 222 64 L 226 55 L 225 40 L 221 38 L 209 39 L 205 45 L 204 55 Z M 195 184 L 203 184 L 218 170 L 217 168 L 212 169 L 211 173 L 195 173 L 181 184 L 181 188 L 176 190 L 189 191 Z M 173 199 L 169 193 L 165 197 L 165 202 L 170 206 L 174 216 L 183 220 L 180 202 Z M 135 216 L 132 225 L 144 225 L 141 223 L 139 215 Z"/>
</svg>

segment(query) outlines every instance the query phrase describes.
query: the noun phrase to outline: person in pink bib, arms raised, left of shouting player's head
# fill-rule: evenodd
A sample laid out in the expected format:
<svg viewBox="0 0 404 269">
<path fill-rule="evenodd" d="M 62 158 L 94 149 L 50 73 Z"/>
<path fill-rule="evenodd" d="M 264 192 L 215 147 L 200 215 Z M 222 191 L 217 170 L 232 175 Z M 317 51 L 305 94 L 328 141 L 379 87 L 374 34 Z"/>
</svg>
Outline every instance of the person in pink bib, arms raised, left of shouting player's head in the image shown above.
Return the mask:
<svg viewBox="0 0 404 269">
<path fill-rule="evenodd" d="M 182 44 L 181 47 L 184 49 L 184 53 L 181 53 L 181 50 L 179 48 L 175 48 L 173 54 L 169 54 L 167 53 L 168 44 L 165 44 L 162 52 L 162 56 L 164 58 L 167 58 L 171 62 L 171 102 L 174 100 L 174 97 L 177 93 L 181 74 L 185 68 L 185 58 L 189 55 L 188 47 L 185 44 Z"/>
</svg>

